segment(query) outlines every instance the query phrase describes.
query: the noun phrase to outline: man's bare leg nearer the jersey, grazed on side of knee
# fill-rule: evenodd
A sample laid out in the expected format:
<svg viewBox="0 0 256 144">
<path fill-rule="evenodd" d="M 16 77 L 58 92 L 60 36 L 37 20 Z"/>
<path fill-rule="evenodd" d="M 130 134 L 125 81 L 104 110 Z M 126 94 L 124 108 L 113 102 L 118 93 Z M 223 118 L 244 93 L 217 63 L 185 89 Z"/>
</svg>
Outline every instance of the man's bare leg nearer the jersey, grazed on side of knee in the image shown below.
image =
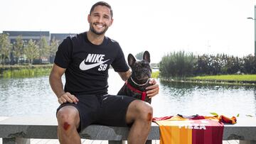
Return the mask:
<svg viewBox="0 0 256 144">
<path fill-rule="evenodd" d="M 129 144 L 144 144 L 149 135 L 153 109 L 150 104 L 135 100 L 127 109 L 127 123 L 133 123 L 128 135 Z"/>
</svg>

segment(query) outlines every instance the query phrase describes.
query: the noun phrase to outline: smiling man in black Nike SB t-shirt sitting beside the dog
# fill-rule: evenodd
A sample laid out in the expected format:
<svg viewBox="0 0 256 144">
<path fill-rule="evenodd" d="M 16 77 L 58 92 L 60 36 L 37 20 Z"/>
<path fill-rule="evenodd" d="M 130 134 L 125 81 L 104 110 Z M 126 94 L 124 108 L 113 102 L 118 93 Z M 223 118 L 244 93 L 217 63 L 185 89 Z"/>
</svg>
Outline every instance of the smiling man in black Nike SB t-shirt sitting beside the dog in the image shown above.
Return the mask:
<svg viewBox="0 0 256 144">
<path fill-rule="evenodd" d="M 130 96 L 107 94 L 110 65 L 124 81 L 131 75 L 119 44 L 105 36 L 112 25 L 112 16 L 109 4 L 97 2 L 87 16 L 89 31 L 66 38 L 56 52 L 49 80 L 61 104 L 57 109 L 60 143 L 81 143 L 78 133 L 91 123 L 131 126 L 128 142 L 146 142 L 153 115 L 151 106 Z M 159 92 L 156 81 L 153 79 L 151 83 L 147 87 L 149 97 Z"/>
</svg>

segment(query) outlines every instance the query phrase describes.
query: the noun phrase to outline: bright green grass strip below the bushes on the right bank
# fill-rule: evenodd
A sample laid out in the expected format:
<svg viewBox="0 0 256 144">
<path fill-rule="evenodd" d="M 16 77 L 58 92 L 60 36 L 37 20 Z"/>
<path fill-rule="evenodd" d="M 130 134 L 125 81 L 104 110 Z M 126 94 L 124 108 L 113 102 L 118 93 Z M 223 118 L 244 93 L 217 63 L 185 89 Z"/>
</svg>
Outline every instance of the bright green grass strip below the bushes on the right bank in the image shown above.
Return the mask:
<svg viewBox="0 0 256 144">
<path fill-rule="evenodd" d="M 211 75 L 189 77 L 194 80 L 223 80 L 223 81 L 238 81 L 238 82 L 256 82 L 256 74 L 227 74 L 227 75 Z"/>
</svg>

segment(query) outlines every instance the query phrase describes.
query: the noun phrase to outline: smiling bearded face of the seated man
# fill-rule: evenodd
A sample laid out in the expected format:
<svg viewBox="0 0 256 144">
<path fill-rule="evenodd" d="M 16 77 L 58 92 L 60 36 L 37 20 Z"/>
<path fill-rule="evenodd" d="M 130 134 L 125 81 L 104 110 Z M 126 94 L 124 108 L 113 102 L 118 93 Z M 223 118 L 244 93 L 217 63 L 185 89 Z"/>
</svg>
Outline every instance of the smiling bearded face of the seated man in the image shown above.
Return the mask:
<svg viewBox="0 0 256 144">
<path fill-rule="evenodd" d="M 112 25 L 113 19 L 110 9 L 107 6 L 96 6 L 92 13 L 88 16 L 90 23 L 90 31 L 97 35 L 105 34 L 107 28 Z"/>
</svg>

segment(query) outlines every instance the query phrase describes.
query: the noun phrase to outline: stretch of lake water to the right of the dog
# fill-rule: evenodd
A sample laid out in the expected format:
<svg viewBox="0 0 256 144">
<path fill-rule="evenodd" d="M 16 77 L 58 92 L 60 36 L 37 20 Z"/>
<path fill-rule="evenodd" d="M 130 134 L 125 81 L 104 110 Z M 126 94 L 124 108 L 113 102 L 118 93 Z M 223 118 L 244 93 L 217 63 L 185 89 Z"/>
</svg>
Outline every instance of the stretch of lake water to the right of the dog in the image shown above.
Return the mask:
<svg viewBox="0 0 256 144">
<path fill-rule="evenodd" d="M 215 85 L 195 85 L 184 83 L 161 83 L 161 91 L 155 112 L 161 116 L 200 114 L 208 116 L 210 112 L 225 116 L 255 116 L 255 87 L 230 87 Z M 167 109 L 166 109 L 167 108 Z"/>
</svg>

